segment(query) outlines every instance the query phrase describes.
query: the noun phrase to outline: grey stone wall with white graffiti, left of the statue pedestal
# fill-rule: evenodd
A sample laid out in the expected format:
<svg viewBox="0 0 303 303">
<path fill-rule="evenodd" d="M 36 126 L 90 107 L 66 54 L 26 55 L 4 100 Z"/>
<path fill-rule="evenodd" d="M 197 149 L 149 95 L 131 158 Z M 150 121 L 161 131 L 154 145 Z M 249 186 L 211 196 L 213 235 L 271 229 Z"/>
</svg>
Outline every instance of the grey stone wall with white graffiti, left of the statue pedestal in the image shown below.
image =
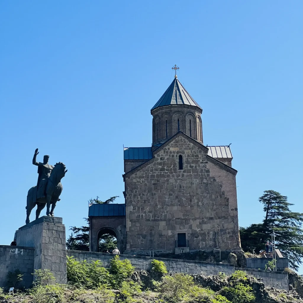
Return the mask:
<svg viewBox="0 0 303 303">
<path fill-rule="evenodd" d="M 0 287 L 5 287 L 9 271 L 20 270 L 22 286 L 32 285 L 34 272 L 35 248 L 25 246 L 0 245 Z"/>
</svg>

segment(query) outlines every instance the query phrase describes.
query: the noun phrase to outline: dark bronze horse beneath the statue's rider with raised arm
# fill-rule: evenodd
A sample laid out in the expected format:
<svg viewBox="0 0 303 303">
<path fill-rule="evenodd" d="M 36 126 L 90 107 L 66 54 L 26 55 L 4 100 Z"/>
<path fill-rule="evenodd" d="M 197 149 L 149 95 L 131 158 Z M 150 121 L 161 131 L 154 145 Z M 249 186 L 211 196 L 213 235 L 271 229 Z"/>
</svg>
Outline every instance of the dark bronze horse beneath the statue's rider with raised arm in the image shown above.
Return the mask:
<svg viewBox="0 0 303 303">
<path fill-rule="evenodd" d="M 54 209 L 56 207 L 57 201 L 60 201 L 59 196 L 62 193 L 62 183 L 61 179 L 65 176 L 67 170 L 65 170 L 65 165 L 62 162 L 58 162 L 55 164 L 50 177 L 48 178 L 46 189 L 45 189 L 45 198 L 35 199 L 35 191 L 37 190 L 37 186 L 33 186 L 29 189 L 27 194 L 27 203 L 26 203 L 26 221 L 25 224 L 28 224 L 29 215 L 31 214 L 32 209 L 37 205 L 36 210 L 36 219 L 39 218 L 39 215 L 45 205 L 47 205 L 46 215 L 54 216 Z M 37 200 L 37 201 L 34 201 Z M 52 209 L 49 210 L 50 205 L 52 204 Z"/>
</svg>

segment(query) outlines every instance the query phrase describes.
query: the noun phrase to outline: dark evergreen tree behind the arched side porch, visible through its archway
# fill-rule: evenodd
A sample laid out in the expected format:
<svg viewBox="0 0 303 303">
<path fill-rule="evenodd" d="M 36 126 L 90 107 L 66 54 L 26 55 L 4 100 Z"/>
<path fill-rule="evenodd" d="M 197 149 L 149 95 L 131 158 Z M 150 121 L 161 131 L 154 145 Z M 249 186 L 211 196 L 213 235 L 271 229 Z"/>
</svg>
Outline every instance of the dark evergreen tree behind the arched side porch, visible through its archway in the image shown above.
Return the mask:
<svg viewBox="0 0 303 303">
<path fill-rule="evenodd" d="M 114 202 L 118 196 L 111 197 L 105 201 L 99 200 L 99 197 L 95 199 L 89 199 L 89 204 L 108 204 Z M 88 218 L 84 218 L 89 224 Z M 89 251 L 89 226 L 71 226 L 71 235 L 66 241 L 66 248 L 71 250 Z M 98 239 L 98 250 L 103 251 L 105 249 L 114 249 L 117 246 L 117 239 L 109 234 L 104 234 Z"/>
</svg>

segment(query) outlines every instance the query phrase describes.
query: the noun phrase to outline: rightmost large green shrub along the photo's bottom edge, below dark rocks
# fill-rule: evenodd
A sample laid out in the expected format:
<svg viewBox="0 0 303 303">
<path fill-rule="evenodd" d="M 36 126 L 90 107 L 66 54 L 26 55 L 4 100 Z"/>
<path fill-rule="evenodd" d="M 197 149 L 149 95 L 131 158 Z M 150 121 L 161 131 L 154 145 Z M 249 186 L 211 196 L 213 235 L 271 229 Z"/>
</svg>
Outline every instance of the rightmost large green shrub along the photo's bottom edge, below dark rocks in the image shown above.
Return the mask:
<svg viewBox="0 0 303 303">
<path fill-rule="evenodd" d="M 230 287 L 223 287 L 222 294 L 232 303 L 249 303 L 256 298 L 252 293 L 252 288 L 249 285 L 244 285 L 241 282 L 238 282 Z"/>
</svg>

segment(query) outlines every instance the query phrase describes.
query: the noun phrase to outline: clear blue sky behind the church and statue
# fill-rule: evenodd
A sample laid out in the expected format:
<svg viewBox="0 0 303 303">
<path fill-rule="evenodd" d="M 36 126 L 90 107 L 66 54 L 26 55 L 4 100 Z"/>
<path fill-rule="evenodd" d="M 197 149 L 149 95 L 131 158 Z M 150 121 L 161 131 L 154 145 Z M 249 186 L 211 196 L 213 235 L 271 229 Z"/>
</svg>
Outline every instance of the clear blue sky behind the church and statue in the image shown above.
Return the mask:
<svg viewBox="0 0 303 303">
<path fill-rule="evenodd" d="M 25 224 L 35 148 L 68 168 L 67 230 L 89 198 L 124 202 L 123 144 L 151 145 L 174 64 L 205 145 L 232 143 L 239 225 L 261 222 L 264 190 L 302 212 L 301 1 L 2 1 L 0 31 L 1 244 Z"/>
</svg>

